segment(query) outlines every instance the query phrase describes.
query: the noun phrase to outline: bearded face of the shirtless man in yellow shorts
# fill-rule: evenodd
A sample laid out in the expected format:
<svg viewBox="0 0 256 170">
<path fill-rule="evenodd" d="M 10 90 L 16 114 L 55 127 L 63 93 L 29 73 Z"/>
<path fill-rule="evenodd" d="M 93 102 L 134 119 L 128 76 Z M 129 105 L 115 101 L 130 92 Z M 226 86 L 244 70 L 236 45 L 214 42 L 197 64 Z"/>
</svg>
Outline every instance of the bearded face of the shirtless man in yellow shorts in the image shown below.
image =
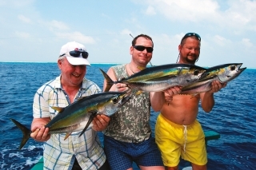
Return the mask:
<svg viewBox="0 0 256 170">
<path fill-rule="evenodd" d="M 178 45 L 180 51 L 179 63 L 194 64 L 200 54 L 200 41 L 194 38 L 186 38 L 184 45 Z"/>
</svg>

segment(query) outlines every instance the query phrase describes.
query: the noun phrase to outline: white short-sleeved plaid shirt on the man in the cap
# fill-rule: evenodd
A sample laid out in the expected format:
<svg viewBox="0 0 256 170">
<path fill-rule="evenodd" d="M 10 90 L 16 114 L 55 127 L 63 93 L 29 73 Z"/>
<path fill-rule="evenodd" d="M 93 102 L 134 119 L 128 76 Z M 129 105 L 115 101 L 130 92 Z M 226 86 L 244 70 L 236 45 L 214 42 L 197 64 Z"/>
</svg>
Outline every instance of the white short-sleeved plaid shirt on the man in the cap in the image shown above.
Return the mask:
<svg viewBox="0 0 256 170">
<path fill-rule="evenodd" d="M 98 85 L 85 78 L 75 100 L 100 91 Z M 69 97 L 62 89 L 59 76 L 42 85 L 35 93 L 33 116 L 34 118 L 50 117 L 52 119 L 58 114 L 58 111 L 51 108 L 52 106 L 65 108 L 67 105 L 70 105 Z M 50 140 L 44 144 L 44 169 L 71 169 L 74 158 L 78 160 L 82 169 L 98 169 L 104 164 L 106 156 L 98 140 L 97 132 L 88 128 L 82 136 L 78 137 L 80 132 L 72 132 L 66 140 L 64 140 L 65 133 L 50 135 Z"/>
</svg>

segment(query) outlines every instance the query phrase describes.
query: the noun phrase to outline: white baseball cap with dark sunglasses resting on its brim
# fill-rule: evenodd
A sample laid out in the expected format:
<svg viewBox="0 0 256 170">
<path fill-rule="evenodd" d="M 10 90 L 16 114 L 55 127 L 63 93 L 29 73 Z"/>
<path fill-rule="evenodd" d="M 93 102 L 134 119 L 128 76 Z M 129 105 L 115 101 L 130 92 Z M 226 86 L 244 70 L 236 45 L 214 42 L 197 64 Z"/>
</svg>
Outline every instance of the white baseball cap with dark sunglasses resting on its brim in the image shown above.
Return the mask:
<svg viewBox="0 0 256 170">
<path fill-rule="evenodd" d="M 86 47 L 78 42 L 68 42 L 62 45 L 59 57 L 66 56 L 71 65 L 90 65 L 87 57 Z"/>
</svg>

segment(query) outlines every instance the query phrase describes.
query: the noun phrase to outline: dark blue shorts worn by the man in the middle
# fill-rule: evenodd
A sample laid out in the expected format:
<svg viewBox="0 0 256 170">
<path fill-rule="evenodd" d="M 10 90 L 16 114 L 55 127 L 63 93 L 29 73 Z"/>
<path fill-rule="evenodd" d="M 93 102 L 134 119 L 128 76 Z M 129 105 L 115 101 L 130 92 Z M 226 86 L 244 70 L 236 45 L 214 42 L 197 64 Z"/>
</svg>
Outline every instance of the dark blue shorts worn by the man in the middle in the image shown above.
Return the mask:
<svg viewBox="0 0 256 170">
<path fill-rule="evenodd" d="M 140 143 L 127 143 L 104 136 L 104 150 L 110 169 L 132 168 L 133 161 L 142 166 L 163 166 L 161 152 L 152 136 Z"/>
</svg>

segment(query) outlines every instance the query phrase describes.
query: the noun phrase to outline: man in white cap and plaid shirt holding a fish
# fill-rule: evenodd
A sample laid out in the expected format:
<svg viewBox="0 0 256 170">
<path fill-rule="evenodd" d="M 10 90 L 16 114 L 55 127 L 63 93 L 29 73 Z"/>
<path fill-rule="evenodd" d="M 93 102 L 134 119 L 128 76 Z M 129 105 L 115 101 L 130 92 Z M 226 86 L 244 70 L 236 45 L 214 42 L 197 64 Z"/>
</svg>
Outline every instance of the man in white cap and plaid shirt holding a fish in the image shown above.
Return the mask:
<svg viewBox="0 0 256 170">
<path fill-rule="evenodd" d="M 65 108 L 80 97 L 101 92 L 93 81 L 85 78 L 89 53 L 78 42 L 68 42 L 62 46 L 58 57 L 61 75 L 47 82 L 34 95 L 33 122 L 31 137 L 44 144 L 44 169 L 99 169 L 108 170 L 106 155 L 98 140 L 97 132 L 106 128 L 110 117 L 104 115 L 94 118 L 92 128 L 82 136 L 81 132 L 49 134 L 46 125 L 58 112 L 52 107 Z"/>
</svg>

